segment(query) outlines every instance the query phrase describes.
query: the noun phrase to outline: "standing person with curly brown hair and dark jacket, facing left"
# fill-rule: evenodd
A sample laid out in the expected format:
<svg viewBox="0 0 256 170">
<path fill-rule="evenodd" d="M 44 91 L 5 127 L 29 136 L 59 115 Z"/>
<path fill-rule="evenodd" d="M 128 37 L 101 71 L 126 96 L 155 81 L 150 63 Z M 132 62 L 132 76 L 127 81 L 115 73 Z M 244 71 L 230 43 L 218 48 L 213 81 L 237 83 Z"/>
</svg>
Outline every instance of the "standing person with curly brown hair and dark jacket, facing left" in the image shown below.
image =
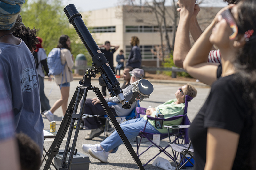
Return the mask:
<svg viewBox="0 0 256 170">
<path fill-rule="evenodd" d="M 130 40 L 130 44 L 132 46 L 131 52 L 126 62 L 126 67 L 131 66 L 133 68 L 140 68 L 141 67 L 141 53 L 139 45 L 139 39 L 136 36 L 132 36 Z"/>
</svg>

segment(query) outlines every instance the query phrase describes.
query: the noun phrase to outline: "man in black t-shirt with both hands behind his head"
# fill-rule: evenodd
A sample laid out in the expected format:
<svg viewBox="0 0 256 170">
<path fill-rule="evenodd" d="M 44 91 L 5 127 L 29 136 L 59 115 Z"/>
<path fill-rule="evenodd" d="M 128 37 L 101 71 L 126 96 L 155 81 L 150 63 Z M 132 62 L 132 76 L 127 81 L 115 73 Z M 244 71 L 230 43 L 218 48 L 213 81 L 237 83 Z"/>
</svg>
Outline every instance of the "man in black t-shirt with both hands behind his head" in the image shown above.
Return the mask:
<svg viewBox="0 0 256 170">
<path fill-rule="evenodd" d="M 109 66 L 113 70 L 113 73 L 115 74 L 113 54 L 119 48 L 119 45 L 110 45 L 109 41 L 105 41 L 105 44 L 98 45 L 98 47 L 100 48 L 100 51 L 105 54 L 105 57 L 109 62 Z M 114 48 L 111 48 L 111 47 L 114 47 Z M 102 95 L 106 96 L 106 86 L 102 87 Z"/>
</svg>

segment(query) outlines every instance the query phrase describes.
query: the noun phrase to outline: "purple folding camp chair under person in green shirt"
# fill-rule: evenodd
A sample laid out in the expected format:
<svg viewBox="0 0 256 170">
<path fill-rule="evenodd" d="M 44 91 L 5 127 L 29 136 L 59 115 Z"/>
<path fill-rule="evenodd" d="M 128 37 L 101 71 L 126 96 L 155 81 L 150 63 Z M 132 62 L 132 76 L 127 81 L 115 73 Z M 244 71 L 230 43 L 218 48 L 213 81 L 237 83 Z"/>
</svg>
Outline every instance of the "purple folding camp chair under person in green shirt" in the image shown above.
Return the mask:
<svg viewBox="0 0 256 170">
<path fill-rule="evenodd" d="M 136 142 L 137 142 L 137 155 L 138 157 L 140 157 L 140 155 L 142 155 L 144 152 L 146 152 L 149 148 L 151 148 L 152 146 L 156 146 L 158 149 L 159 149 L 159 153 L 157 153 L 155 156 L 153 156 L 152 159 L 150 159 L 148 162 L 150 162 L 151 160 L 153 160 L 154 158 L 156 158 L 156 156 L 158 156 L 161 152 L 163 152 L 164 154 L 166 154 L 169 158 L 171 158 L 173 161 L 176 159 L 174 157 L 176 157 L 174 155 L 174 157 L 169 154 L 167 151 L 166 151 L 166 148 L 168 148 L 170 145 L 167 144 L 166 147 L 161 147 L 161 146 L 158 146 L 156 145 L 152 140 L 153 140 L 153 133 L 147 133 L 145 132 L 145 128 L 146 128 L 146 125 L 148 123 L 148 120 L 163 120 L 163 121 L 171 121 L 171 120 L 176 120 L 176 119 L 179 119 L 179 118 L 182 118 L 182 122 L 180 125 L 190 125 L 190 121 L 187 117 L 187 108 L 188 108 L 188 102 L 191 101 L 193 99 L 193 97 L 190 97 L 188 95 L 186 95 L 185 97 L 185 108 L 184 108 L 184 114 L 183 115 L 179 115 L 179 116 L 174 116 L 174 117 L 171 117 L 171 118 L 168 118 L 168 119 L 161 119 L 161 118 L 156 118 L 156 117 L 151 117 L 151 116 L 147 116 L 147 121 L 146 121 L 146 124 L 144 126 L 144 129 L 141 130 L 138 134 L 138 136 L 140 136 L 140 141 L 138 142 L 138 136 L 136 137 Z M 144 114 L 145 115 L 145 111 L 146 111 L 146 108 L 141 108 L 141 107 L 136 107 L 136 111 L 139 114 Z M 181 143 L 189 143 L 189 137 L 188 137 L 188 129 L 187 128 L 183 128 L 183 129 L 179 129 L 179 133 L 156 133 L 156 134 L 160 134 L 160 140 L 168 137 L 168 136 L 175 136 L 175 139 L 172 141 L 172 143 L 179 143 L 179 140 L 178 139 L 181 139 Z M 140 147 L 140 143 L 142 141 L 142 138 L 145 137 L 146 139 L 148 139 L 149 142 L 151 142 L 151 145 L 146 149 L 144 150 L 143 152 L 141 152 L 139 154 L 139 147 Z M 145 163 L 143 166 L 147 165 L 148 164 Z"/>
</svg>

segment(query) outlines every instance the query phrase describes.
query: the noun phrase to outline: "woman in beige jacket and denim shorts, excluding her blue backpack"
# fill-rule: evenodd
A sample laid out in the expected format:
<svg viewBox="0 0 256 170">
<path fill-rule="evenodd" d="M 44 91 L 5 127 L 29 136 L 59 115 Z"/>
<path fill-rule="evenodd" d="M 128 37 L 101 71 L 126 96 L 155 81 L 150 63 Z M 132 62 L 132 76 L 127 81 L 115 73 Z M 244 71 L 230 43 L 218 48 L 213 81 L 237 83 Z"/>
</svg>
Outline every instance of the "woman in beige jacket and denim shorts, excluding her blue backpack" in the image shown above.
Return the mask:
<svg viewBox="0 0 256 170">
<path fill-rule="evenodd" d="M 68 35 L 61 35 L 59 39 L 59 44 L 57 45 L 57 48 L 60 48 L 60 58 L 61 58 L 61 64 L 64 65 L 64 74 L 60 73 L 59 75 L 55 76 L 55 80 L 57 85 L 62 86 L 60 89 L 61 97 L 59 100 L 57 100 L 52 108 L 44 113 L 45 117 L 49 121 L 54 120 L 53 113 L 61 106 L 63 115 L 65 115 L 66 110 L 68 108 L 68 97 L 69 97 L 69 87 L 71 81 L 73 81 L 73 74 L 71 71 L 71 68 L 74 65 L 74 58 L 71 55 L 71 42 Z M 62 49 L 63 48 L 63 49 Z M 63 78 L 62 78 L 63 77 Z M 62 81 L 63 79 L 63 81 Z"/>
</svg>

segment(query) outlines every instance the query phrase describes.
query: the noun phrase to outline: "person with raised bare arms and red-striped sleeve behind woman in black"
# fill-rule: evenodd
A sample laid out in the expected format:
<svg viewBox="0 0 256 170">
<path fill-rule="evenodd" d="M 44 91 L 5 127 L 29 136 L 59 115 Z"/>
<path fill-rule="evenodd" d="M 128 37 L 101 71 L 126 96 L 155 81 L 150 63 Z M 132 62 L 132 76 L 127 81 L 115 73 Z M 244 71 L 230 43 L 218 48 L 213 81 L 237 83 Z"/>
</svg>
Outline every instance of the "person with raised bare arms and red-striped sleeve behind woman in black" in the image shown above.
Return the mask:
<svg viewBox="0 0 256 170">
<path fill-rule="evenodd" d="M 237 4 L 240 0 L 223 0 L 228 4 Z M 180 12 L 180 20 L 176 32 L 175 45 L 173 50 L 173 61 L 177 67 L 183 68 L 183 61 L 191 48 L 189 33 L 194 42 L 202 34 L 202 30 L 197 22 L 196 16 L 200 11 L 198 4 L 194 0 L 179 0 L 177 2 Z M 209 63 L 221 63 L 221 53 L 219 49 L 212 47 L 208 55 Z M 222 68 L 220 67 L 220 70 Z"/>
</svg>

